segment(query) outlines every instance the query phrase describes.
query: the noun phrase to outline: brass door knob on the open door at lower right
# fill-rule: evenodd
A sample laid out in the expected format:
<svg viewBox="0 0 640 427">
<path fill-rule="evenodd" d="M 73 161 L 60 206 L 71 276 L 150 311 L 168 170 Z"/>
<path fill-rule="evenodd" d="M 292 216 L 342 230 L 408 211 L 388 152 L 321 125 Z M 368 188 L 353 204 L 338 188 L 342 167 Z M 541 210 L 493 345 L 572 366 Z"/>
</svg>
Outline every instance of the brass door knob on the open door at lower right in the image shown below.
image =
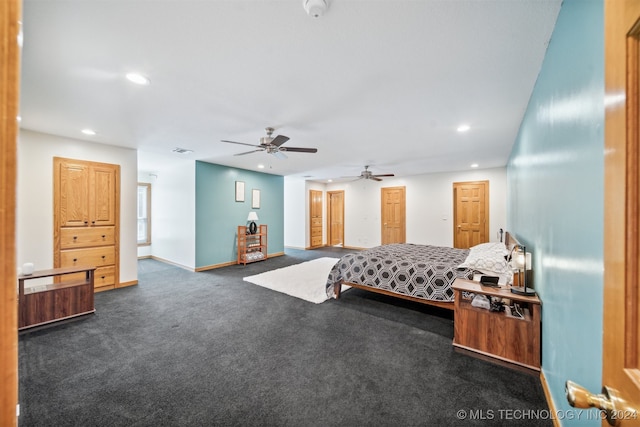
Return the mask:
<svg viewBox="0 0 640 427">
<path fill-rule="evenodd" d="M 574 408 L 598 408 L 611 426 L 620 425 L 620 416 L 627 412 L 617 391 L 607 386 L 602 387 L 601 394 L 594 394 L 573 381 L 567 381 L 564 390 L 569 405 Z"/>
</svg>

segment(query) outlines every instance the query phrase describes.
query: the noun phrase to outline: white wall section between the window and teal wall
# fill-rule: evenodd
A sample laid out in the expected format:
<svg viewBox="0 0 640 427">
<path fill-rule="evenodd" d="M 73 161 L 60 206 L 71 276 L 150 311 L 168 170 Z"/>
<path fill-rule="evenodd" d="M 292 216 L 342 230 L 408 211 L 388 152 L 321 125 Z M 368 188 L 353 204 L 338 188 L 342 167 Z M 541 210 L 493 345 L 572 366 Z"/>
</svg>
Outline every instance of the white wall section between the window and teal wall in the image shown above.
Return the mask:
<svg viewBox="0 0 640 427">
<path fill-rule="evenodd" d="M 138 163 L 140 179 L 146 176 L 141 182 L 151 182 L 151 246 L 138 254 L 195 269 L 195 161 L 140 151 Z"/>
</svg>

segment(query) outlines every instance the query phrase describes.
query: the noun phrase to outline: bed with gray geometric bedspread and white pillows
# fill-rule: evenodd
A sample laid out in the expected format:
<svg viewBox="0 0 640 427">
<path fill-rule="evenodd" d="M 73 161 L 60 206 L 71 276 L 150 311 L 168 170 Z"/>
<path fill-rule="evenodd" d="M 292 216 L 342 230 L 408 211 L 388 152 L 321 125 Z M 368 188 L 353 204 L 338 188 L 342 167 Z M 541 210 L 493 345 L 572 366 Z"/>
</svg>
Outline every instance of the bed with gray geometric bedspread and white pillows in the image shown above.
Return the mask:
<svg viewBox="0 0 640 427">
<path fill-rule="evenodd" d="M 451 286 L 457 278 L 483 273 L 509 280 L 508 244 L 505 240 L 457 249 L 403 243 L 347 254 L 329 272 L 327 296 L 340 298 L 341 285 L 348 285 L 453 310 Z"/>
</svg>

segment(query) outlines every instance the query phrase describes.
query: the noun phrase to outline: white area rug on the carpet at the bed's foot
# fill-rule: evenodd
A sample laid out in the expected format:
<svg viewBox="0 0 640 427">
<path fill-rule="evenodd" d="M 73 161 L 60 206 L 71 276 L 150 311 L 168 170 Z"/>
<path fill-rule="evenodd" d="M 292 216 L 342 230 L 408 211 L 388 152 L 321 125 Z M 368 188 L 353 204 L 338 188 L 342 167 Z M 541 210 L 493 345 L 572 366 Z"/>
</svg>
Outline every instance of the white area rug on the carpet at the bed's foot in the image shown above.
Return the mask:
<svg viewBox="0 0 640 427">
<path fill-rule="evenodd" d="M 318 258 L 243 278 L 245 282 L 273 289 L 315 304 L 328 300 L 325 290 L 331 268 L 339 258 Z M 343 289 L 347 288 L 343 286 Z"/>
</svg>

